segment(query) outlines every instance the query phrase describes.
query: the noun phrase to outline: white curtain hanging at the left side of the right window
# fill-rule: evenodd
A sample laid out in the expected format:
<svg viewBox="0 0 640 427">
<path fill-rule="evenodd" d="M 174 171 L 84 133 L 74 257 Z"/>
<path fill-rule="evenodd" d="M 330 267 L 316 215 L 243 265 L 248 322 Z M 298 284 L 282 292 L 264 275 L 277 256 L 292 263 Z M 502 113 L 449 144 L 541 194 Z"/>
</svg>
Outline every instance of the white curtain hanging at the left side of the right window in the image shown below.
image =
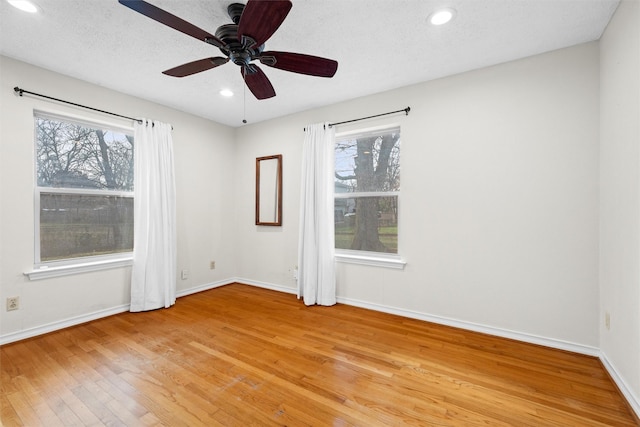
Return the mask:
<svg viewBox="0 0 640 427">
<path fill-rule="evenodd" d="M 336 303 L 333 218 L 335 131 L 326 123 L 305 128 L 300 193 L 298 298 L 306 305 Z"/>
</svg>

